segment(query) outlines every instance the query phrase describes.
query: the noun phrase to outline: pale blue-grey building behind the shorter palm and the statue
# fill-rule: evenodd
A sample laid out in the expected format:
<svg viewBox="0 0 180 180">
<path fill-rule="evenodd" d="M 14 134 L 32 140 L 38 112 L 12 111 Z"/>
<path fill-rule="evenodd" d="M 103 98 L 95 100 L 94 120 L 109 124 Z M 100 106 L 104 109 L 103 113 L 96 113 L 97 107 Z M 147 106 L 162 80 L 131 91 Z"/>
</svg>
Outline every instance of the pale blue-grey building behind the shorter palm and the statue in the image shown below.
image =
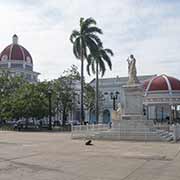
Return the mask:
<svg viewBox="0 0 180 180">
<path fill-rule="evenodd" d="M 138 76 L 141 83 L 148 80 L 156 75 Z M 117 109 L 119 103 L 122 100 L 122 86 L 126 85 L 128 77 L 116 78 L 104 78 L 99 79 L 99 91 L 103 95 L 101 98 L 101 106 L 99 107 L 99 123 L 109 123 L 111 121 L 111 114 L 113 111 L 113 106 Z M 95 88 L 96 80 L 92 80 L 90 85 Z M 114 100 L 113 100 L 114 99 Z M 89 112 L 88 121 L 90 123 L 95 123 L 95 112 Z"/>
</svg>

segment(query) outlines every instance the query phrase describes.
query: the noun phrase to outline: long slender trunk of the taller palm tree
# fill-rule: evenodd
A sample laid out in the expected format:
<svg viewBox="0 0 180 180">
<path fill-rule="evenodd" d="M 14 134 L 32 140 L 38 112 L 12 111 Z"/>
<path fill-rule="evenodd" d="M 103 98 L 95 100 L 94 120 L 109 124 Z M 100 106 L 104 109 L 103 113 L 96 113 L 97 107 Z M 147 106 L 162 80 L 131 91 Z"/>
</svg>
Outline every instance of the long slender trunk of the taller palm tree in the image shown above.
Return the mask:
<svg viewBox="0 0 180 180">
<path fill-rule="evenodd" d="M 80 109 L 80 122 L 84 124 L 84 58 L 83 58 L 83 49 L 81 48 L 81 109 Z"/>
</svg>

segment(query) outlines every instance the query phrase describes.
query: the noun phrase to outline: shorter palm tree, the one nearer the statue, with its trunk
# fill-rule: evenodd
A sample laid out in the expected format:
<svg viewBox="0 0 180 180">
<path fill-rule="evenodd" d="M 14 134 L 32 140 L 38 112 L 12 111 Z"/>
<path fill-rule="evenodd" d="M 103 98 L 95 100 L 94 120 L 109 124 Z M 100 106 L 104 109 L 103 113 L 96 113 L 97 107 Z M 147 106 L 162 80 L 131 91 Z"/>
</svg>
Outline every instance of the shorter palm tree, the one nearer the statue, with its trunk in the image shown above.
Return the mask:
<svg viewBox="0 0 180 180">
<path fill-rule="evenodd" d="M 106 71 L 105 63 L 108 65 L 110 70 L 112 69 L 111 59 L 110 56 L 113 56 L 113 52 L 111 49 L 103 49 L 102 47 L 98 48 L 98 53 L 93 55 L 88 55 L 88 65 L 87 65 L 87 72 L 90 75 L 90 66 L 92 69 L 93 74 L 96 74 L 96 95 L 95 95 L 95 101 L 96 101 L 96 123 L 99 122 L 99 72 L 101 72 L 101 76 L 104 76 L 104 73 Z"/>
</svg>

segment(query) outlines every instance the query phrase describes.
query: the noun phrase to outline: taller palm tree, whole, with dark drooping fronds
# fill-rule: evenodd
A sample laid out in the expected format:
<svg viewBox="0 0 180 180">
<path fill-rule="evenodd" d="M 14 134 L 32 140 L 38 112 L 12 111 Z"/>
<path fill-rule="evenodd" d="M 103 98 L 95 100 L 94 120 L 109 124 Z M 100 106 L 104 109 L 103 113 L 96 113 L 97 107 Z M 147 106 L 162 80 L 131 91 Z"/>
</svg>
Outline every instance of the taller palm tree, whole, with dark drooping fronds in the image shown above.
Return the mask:
<svg viewBox="0 0 180 180">
<path fill-rule="evenodd" d="M 97 36 L 102 34 L 102 30 L 96 26 L 93 18 L 80 18 L 80 30 L 73 30 L 70 41 L 73 43 L 73 53 L 77 59 L 81 60 L 81 123 L 84 123 L 84 59 L 87 59 L 87 53 L 94 54 L 102 42 Z"/>
</svg>

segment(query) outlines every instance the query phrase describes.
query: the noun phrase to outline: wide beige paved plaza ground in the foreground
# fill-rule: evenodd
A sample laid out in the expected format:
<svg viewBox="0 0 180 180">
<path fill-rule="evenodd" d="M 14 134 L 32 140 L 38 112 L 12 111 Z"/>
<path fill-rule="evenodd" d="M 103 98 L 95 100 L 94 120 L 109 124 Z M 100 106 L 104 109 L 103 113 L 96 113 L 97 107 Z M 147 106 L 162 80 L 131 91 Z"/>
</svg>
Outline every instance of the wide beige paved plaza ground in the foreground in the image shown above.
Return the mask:
<svg viewBox="0 0 180 180">
<path fill-rule="evenodd" d="M 0 180 L 179 180 L 180 144 L 0 132 Z"/>
</svg>

